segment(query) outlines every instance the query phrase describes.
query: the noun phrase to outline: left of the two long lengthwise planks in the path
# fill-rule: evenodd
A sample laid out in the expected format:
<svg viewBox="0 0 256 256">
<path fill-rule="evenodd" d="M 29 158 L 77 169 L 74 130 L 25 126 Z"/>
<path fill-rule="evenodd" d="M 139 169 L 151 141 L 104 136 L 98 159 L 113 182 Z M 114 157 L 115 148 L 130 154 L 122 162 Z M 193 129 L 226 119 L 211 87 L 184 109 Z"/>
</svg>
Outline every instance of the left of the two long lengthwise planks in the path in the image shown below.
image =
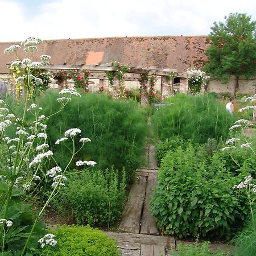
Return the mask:
<svg viewBox="0 0 256 256">
<path fill-rule="evenodd" d="M 137 176 L 135 183 L 131 186 L 126 210 L 119 226 L 119 231 L 121 232 L 139 233 L 143 200 L 146 192 L 146 179 L 147 177 Z"/>
</svg>

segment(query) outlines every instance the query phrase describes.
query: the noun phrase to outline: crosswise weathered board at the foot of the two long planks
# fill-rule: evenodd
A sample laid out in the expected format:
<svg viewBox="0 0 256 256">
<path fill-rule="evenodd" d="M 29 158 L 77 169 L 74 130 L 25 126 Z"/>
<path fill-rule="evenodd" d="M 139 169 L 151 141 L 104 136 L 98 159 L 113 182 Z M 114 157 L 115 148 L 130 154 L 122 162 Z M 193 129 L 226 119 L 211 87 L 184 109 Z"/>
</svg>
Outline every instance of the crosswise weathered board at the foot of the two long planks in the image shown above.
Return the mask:
<svg viewBox="0 0 256 256">
<path fill-rule="evenodd" d="M 150 236 L 147 234 L 104 232 L 118 242 L 142 243 L 143 245 L 162 245 L 167 248 L 175 247 L 174 237 Z"/>
</svg>

